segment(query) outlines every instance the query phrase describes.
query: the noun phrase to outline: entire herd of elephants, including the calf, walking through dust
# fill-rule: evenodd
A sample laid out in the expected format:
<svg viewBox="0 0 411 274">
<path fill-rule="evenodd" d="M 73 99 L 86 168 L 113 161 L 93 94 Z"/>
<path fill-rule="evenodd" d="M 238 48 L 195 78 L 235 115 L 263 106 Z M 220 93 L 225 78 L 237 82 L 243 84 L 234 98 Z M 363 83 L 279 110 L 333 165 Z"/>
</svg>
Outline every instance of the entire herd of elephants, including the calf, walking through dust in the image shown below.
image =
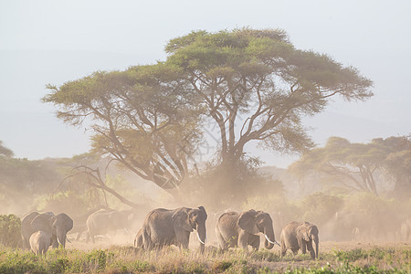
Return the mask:
<svg viewBox="0 0 411 274">
<path fill-rule="evenodd" d="M 87 217 L 87 240 L 124 229 L 126 232 L 130 212 L 100 209 Z M 200 252 L 205 251 L 207 213 L 204 206 L 176 209 L 157 208 L 152 210 L 142 222 L 142 227 L 134 238 L 134 247 L 144 250 L 161 249 L 174 245 L 187 249 L 190 234 L 195 231 Z M 21 235 L 24 248 L 31 248 L 37 254 L 46 254 L 51 246 L 66 245 L 67 234 L 73 228 L 73 220 L 66 214 L 57 216 L 52 212 L 33 212 L 22 221 Z M 75 229 L 76 230 L 76 229 Z M 82 231 L 76 230 L 81 235 Z M 237 213 L 222 213 L 216 219 L 216 238 L 219 248 L 248 248 L 258 250 L 260 234 L 264 236 L 264 248 L 278 245 L 281 257 L 290 249 L 294 254 L 310 252 L 311 258 L 318 258 L 319 230 L 308 222 L 290 222 L 282 227 L 280 243 L 276 240 L 271 216 L 254 209 Z M 314 248 L 315 247 L 315 248 Z"/>
</svg>

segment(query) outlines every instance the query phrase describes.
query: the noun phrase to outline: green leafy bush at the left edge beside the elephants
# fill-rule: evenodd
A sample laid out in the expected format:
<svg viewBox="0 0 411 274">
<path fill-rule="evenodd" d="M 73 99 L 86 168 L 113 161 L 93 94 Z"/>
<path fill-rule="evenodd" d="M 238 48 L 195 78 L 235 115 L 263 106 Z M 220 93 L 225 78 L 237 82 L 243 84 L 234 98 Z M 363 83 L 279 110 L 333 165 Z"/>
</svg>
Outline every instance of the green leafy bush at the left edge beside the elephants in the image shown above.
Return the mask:
<svg viewBox="0 0 411 274">
<path fill-rule="evenodd" d="M 0 215 L 0 245 L 16 248 L 21 243 L 21 220 L 14 214 Z"/>
</svg>

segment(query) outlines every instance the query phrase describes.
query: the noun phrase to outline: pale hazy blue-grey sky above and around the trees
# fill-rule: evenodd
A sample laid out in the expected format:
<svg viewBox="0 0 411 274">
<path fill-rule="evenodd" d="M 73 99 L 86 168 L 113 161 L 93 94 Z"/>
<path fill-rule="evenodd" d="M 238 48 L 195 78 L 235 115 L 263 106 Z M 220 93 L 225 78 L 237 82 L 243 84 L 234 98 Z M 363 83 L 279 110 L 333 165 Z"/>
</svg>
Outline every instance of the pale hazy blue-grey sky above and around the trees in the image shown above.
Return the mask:
<svg viewBox="0 0 411 274">
<path fill-rule="evenodd" d="M 47 83 L 163 60 L 167 41 L 192 30 L 243 26 L 284 29 L 295 47 L 326 53 L 374 80 L 373 99 L 335 100 L 306 119 L 319 144 L 332 135 L 369 142 L 408 134 L 410 12 L 409 0 L 0 0 L 0 140 L 28 159 L 85 153 L 90 132 L 58 121 L 40 101 Z M 213 148 L 217 141 L 207 142 Z M 295 159 L 247 149 L 266 164 Z"/>
</svg>

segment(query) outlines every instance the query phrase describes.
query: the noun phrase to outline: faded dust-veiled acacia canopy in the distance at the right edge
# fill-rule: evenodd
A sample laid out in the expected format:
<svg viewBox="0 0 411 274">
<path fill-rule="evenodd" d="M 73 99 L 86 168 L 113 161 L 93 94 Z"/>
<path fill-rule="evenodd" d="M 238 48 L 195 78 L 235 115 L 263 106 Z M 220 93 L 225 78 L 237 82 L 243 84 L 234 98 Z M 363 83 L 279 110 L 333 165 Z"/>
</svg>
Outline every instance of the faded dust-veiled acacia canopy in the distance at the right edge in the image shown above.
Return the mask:
<svg viewBox="0 0 411 274">
<path fill-rule="evenodd" d="M 290 171 L 301 177 L 319 172 L 329 174 L 343 186 L 378 195 L 374 174 L 385 169 L 397 178 L 395 188 L 406 190 L 410 182 L 409 140 L 406 137 L 374 139 L 369 143 L 352 143 L 331 137 L 322 148 L 316 148 L 290 165 Z"/>
</svg>

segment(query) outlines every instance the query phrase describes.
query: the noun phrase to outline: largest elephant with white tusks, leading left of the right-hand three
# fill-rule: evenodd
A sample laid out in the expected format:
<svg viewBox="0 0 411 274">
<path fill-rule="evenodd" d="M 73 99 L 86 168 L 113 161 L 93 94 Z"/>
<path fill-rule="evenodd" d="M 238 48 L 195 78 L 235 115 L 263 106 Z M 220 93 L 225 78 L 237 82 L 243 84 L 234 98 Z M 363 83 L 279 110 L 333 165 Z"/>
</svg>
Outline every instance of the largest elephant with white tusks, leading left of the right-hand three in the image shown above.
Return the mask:
<svg viewBox="0 0 411 274">
<path fill-rule="evenodd" d="M 180 249 L 187 249 L 190 233 L 196 230 L 200 252 L 204 253 L 206 219 L 204 206 L 154 209 L 142 224 L 142 248 L 152 250 L 174 245 Z"/>
</svg>

